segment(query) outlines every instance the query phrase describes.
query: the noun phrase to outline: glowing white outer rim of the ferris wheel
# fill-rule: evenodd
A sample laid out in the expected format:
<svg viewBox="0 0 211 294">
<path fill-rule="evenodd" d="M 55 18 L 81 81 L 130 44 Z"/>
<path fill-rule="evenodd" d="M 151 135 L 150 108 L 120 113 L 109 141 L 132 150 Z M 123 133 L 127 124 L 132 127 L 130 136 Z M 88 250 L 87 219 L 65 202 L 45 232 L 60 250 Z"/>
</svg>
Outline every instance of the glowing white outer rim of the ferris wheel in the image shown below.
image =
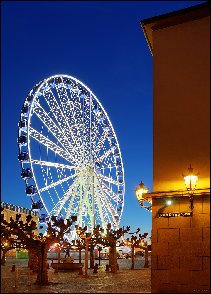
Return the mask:
<svg viewBox="0 0 211 294">
<path fill-rule="evenodd" d="M 39 82 L 38 84 L 36 84 L 36 86 L 39 85 L 39 87 L 38 87 L 36 93 L 34 93 L 34 97 L 33 97 L 33 100 L 32 100 L 32 102 L 31 102 L 31 105 L 33 106 L 33 103 L 34 103 L 34 101 L 35 101 L 35 99 L 36 99 L 36 97 L 37 97 L 37 94 L 38 94 L 39 90 L 45 85 L 45 83 L 47 83 L 47 82 L 48 82 L 49 80 L 51 80 L 52 78 L 58 78 L 58 77 L 62 77 L 62 78 L 64 78 L 64 79 L 65 79 L 65 78 L 66 78 L 66 79 L 71 79 L 71 80 L 75 81 L 76 83 L 80 84 L 82 87 L 84 87 L 88 92 L 90 92 L 90 95 L 94 97 L 94 99 L 96 100 L 96 102 L 97 102 L 97 103 L 99 104 L 99 106 L 101 107 L 101 109 L 102 109 L 101 113 L 103 112 L 103 113 L 105 114 L 106 119 L 107 119 L 108 123 L 109 123 L 110 126 L 111 126 L 111 127 L 110 127 L 110 131 L 112 130 L 112 132 L 113 132 L 113 134 L 114 134 L 114 138 L 115 138 L 115 140 L 116 140 L 116 142 L 117 142 L 117 146 L 119 146 L 119 144 L 118 144 L 118 140 L 117 140 L 117 137 L 116 137 L 116 134 L 115 134 L 115 131 L 114 131 L 114 128 L 112 127 L 112 123 L 111 123 L 109 117 L 107 116 L 107 113 L 106 113 L 106 111 L 104 110 L 102 104 L 99 102 L 99 100 L 97 99 L 97 97 L 92 93 L 92 91 L 90 91 L 90 89 L 87 88 L 87 86 L 85 86 L 81 81 L 79 81 L 78 79 L 76 79 L 76 78 L 74 78 L 74 77 L 72 77 L 72 76 L 63 75 L 63 74 L 62 74 L 62 75 L 54 75 L 54 76 L 51 76 L 50 78 L 47 78 L 47 79 L 45 79 L 45 80 Z M 29 92 L 29 94 L 27 95 L 27 97 L 30 95 L 30 93 L 32 93 L 32 90 Z M 27 102 L 26 102 L 26 101 L 27 101 L 27 97 L 26 97 L 26 100 L 25 100 L 23 106 L 26 106 L 26 105 L 27 105 Z M 32 112 L 32 109 L 33 109 L 33 107 L 30 107 L 30 110 L 29 110 L 29 113 L 28 113 L 28 125 L 30 125 L 30 119 L 31 119 L 31 112 Z M 20 131 L 20 129 L 19 129 L 19 136 L 20 136 L 20 134 L 21 134 L 21 131 Z M 28 140 L 28 142 L 29 142 L 29 138 L 30 138 L 30 135 L 29 135 L 29 128 L 27 128 L 27 140 Z M 20 146 L 19 146 L 19 149 L 20 149 Z M 20 151 L 20 150 L 19 150 L 19 151 Z M 120 152 L 120 149 L 119 149 L 119 148 L 118 148 L 118 152 L 119 152 L 119 158 L 120 158 L 121 163 L 122 163 L 122 157 L 121 157 L 121 152 Z M 33 180 L 34 180 L 35 186 L 38 187 L 38 185 L 37 185 L 37 183 L 36 183 L 36 176 L 35 176 L 35 173 L 34 173 L 34 171 L 33 171 L 33 165 L 32 165 L 32 159 L 31 159 L 31 150 L 30 150 L 30 144 L 29 144 L 29 143 L 28 143 L 28 156 L 29 156 L 29 163 L 30 163 L 30 168 L 31 168 L 31 172 L 32 172 Z M 21 166 L 22 166 L 22 170 L 23 170 L 23 163 L 21 163 Z M 90 167 L 93 167 L 93 166 L 90 166 Z M 89 168 L 89 167 L 88 167 L 88 166 L 84 166 L 84 171 L 85 171 L 86 168 Z M 77 168 L 77 167 L 75 167 L 75 169 L 76 169 L 76 170 L 80 170 L 80 173 L 82 173 L 82 169 Z M 122 176 L 123 176 L 123 180 L 124 180 L 124 168 L 123 168 L 123 165 L 121 165 L 121 169 L 122 169 Z M 25 180 L 25 182 L 26 182 L 26 186 L 27 186 L 27 185 L 28 185 L 28 184 L 27 184 L 27 180 Z M 123 185 L 123 186 L 124 186 L 124 185 Z M 43 206 L 44 206 L 44 208 L 45 208 L 45 211 L 47 212 L 48 216 L 50 217 L 52 214 L 49 213 L 48 208 L 47 208 L 46 205 L 45 205 L 45 201 L 43 200 L 42 196 L 40 195 L 39 190 L 38 190 L 38 195 L 39 195 L 39 198 L 40 198 L 41 202 L 43 203 Z M 121 209 L 121 215 L 122 215 L 123 205 L 124 205 L 124 190 L 123 190 L 123 195 L 121 195 L 121 196 L 123 197 L 123 201 L 122 201 L 122 209 Z M 31 197 L 31 199 L 32 199 L 32 201 L 33 201 L 33 197 Z M 117 223 L 120 222 L 120 220 L 121 220 L 121 215 L 119 216 L 119 221 L 117 221 Z"/>
</svg>

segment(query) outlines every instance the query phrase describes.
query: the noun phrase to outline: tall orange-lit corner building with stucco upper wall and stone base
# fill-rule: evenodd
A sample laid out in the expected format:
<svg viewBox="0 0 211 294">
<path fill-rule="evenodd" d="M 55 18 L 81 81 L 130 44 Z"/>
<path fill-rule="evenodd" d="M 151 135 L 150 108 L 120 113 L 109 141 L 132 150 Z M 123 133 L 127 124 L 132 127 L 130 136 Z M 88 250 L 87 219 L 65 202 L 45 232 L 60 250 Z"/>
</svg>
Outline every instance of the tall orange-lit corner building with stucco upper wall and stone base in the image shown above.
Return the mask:
<svg viewBox="0 0 211 294">
<path fill-rule="evenodd" d="M 153 55 L 151 293 L 210 293 L 210 1 L 140 24 Z"/>
</svg>

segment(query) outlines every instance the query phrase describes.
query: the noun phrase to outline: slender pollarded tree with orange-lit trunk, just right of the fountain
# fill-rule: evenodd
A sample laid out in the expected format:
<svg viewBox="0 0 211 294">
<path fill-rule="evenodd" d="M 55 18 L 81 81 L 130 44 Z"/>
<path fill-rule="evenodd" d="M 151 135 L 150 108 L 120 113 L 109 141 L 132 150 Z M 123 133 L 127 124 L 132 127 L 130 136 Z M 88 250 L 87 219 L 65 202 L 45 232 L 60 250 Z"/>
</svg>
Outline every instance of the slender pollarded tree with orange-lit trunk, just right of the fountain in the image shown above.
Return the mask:
<svg viewBox="0 0 211 294">
<path fill-rule="evenodd" d="M 85 252 L 85 270 L 84 270 L 84 277 L 88 278 L 88 251 L 89 251 L 89 243 L 94 241 L 93 236 L 97 233 L 99 233 L 99 228 L 100 226 L 97 225 L 96 228 L 93 229 L 92 233 L 85 233 L 87 230 L 87 227 L 85 228 L 78 228 L 78 225 L 75 225 L 76 228 L 76 232 L 79 235 L 79 238 L 83 239 L 85 241 L 86 244 L 86 252 Z"/>
</svg>

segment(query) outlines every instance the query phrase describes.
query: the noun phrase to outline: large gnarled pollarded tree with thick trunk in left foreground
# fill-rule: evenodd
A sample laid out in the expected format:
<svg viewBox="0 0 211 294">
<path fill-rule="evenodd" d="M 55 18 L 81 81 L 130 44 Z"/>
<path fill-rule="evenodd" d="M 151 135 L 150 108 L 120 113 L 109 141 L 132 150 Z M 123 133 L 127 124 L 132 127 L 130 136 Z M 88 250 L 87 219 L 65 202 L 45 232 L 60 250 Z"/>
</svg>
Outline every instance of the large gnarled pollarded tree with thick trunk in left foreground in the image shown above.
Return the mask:
<svg viewBox="0 0 211 294">
<path fill-rule="evenodd" d="M 1 210 L 2 211 L 2 210 Z M 26 245 L 27 248 L 33 249 L 37 253 L 38 257 L 38 267 L 37 267 L 37 280 L 36 285 L 48 285 L 48 260 L 47 253 L 50 246 L 54 243 L 59 243 L 60 240 L 63 240 L 63 235 L 70 232 L 71 229 L 68 229 L 73 222 L 77 220 L 77 216 L 71 216 L 71 221 L 67 219 L 65 224 L 63 220 L 56 220 L 56 216 L 52 216 L 51 220 L 55 227 L 52 228 L 51 223 L 48 223 L 48 235 L 43 237 L 40 233 L 40 236 L 36 236 L 33 233 L 33 230 L 38 229 L 36 223 L 32 220 L 31 215 L 26 217 L 26 223 L 19 221 L 21 214 L 16 214 L 16 220 L 10 218 L 10 223 L 4 220 L 4 214 L 1 213 L 1 231 L 7 235 L 17 235 L 21 242 Z M 42 228 L 42 226 L 40 227 Z M 58 233 L 58 234 L 56 234 Z"/>
</svg>

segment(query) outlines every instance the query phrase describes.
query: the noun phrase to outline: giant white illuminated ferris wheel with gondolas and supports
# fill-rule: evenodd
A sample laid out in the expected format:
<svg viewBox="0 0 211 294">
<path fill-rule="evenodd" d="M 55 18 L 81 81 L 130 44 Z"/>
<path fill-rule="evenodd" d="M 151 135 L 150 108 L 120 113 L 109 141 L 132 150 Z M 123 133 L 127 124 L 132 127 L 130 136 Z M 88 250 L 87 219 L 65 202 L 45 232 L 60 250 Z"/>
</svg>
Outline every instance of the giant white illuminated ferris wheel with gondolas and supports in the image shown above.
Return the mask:
<svg viewBox="0 0 211 294">
<path fill-rule="evenodd" d="M 76 224 L 90 232 L 107 223 L 119 229 L 121 152 L 104 108 L 83 83 L 57 75 L 36 84 L 23 104 L 18 145 L 21 177 L 40 223 L 77 215 Z M 75 235 L 72 226 L 68 238 Z"/>
</svg>

